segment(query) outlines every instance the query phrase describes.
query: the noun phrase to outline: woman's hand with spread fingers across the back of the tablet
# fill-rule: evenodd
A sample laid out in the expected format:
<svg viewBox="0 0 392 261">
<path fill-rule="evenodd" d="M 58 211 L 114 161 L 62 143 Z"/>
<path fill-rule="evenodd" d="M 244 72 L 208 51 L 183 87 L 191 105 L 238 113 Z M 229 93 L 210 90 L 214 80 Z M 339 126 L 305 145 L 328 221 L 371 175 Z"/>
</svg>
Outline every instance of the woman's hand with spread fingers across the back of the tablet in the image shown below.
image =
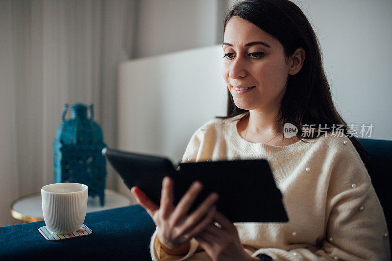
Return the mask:
<svg viewBox="0 0 392 261">
<path fill-rule="evenodd" d="M 173 182 L 169 177 L 162 181 L 160 206 L 153 203 L 139 188 L 133 187 L 131 191 L 158 227 L 159 241 L 166 248 L 175 249 L 200 233 L 212 221 L 214 204 L 218 200 L 216 193 L 211 193 L 193 213 L 187 214 L 201 189 L 201 183 L 194 182 L 176 207 L 173 206 Z"/>
</svg>

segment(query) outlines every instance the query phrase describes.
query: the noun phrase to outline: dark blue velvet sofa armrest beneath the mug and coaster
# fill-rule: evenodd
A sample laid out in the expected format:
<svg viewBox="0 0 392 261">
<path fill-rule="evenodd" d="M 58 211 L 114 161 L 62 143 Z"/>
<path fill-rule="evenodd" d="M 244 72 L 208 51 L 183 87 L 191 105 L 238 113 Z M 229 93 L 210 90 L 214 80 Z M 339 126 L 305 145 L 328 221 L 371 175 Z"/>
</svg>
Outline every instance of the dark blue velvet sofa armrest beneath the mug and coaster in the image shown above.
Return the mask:
<svg viewBox="0 0 392 261">
<path fill-rule="evenodd" d="M 48 241 L 38 231 L 44 221 L 0 227 L 0 260 L 151 260 L 155 224 L 139 205 L 88 213 L 93 233 Z"/>
</svg>

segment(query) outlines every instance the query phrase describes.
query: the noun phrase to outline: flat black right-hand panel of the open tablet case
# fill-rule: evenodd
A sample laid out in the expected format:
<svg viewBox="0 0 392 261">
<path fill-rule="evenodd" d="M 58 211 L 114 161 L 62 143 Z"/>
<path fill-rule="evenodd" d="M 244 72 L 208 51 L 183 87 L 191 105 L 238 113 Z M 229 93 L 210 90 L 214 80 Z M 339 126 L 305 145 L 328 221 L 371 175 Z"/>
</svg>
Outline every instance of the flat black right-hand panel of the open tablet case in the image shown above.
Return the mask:
<svg viewBox="0 0 392 261">
<path fill-rule="evenodd" d="M 288 221 L 282 194 L 276 188 L 267 160 L 196 162 L 179 166 L 178 174 L 187 178 L 176 179 L 183 184 L 176 186 L 175 192 L 182 194 L 183 188 L 199 180 L 203 191 L 197 203 L 210 192 L 217 192 L 220 196 L 217 209 L 232 222 Z"/>
</svg>

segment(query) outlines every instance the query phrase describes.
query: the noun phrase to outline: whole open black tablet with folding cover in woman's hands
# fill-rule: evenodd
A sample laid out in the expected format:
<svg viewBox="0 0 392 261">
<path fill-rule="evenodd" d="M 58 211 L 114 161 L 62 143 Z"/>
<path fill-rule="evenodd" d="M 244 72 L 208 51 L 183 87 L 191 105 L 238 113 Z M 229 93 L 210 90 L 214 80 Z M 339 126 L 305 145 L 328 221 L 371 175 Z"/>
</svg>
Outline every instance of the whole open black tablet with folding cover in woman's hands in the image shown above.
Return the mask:
<svg viewBox="0 0 392 261">
<path fill-rule="evenodd" d="M 174 181 L 174 204 L 198 180 L 203 190 L 190 211 L 196 209 L 211 192 L 219 194 L 217 210 L 232 222 L 287 222 L 282 203 L 267 160 L 234 160 L 181 163 L 174 166 L 163 157 L 104 148 L 102 154 L 130 189 L 143 190 L 160 204 L 162 179 Z"/>
</svg>

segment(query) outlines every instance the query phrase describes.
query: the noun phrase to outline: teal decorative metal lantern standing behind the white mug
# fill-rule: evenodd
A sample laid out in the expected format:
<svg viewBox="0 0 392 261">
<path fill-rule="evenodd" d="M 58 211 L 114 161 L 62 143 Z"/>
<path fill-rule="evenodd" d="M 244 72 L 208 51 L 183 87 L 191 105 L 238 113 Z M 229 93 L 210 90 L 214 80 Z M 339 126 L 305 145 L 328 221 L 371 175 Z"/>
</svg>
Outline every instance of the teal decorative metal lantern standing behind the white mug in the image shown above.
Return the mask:
<svg viewBox="0 0 392 261">
<path fill-rule="evenodd" d="M 77 103 L 71 106 L 71 118 L 66 120 L 68 109 L 66 104 L 63 122 L 53 142 L 54 182 L 86 184 L 89 196 L 98 195 L 103 206 L 106 160 L 101 151 L 106 145 L 101 128 L 93 120 L 93 104 L 90 105 L 90 118 L 87 118 L 87 106 Z"/>
</svg>

